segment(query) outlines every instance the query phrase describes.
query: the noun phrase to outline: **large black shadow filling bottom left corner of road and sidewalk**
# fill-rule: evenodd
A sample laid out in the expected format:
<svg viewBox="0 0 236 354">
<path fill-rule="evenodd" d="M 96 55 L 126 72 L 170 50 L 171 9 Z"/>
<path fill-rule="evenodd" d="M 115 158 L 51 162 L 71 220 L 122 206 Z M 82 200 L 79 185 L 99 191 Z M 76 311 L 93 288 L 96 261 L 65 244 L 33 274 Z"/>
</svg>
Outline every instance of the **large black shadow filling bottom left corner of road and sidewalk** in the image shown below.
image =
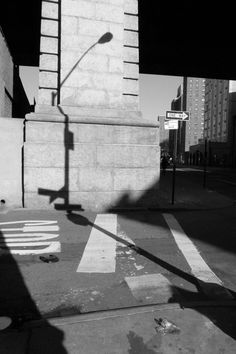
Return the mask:
<svg viewBox="0 0 236 354">
<path fill-rule="evenodd" d="M 42 315 L 25 284 L 14 255 L 11 254 L 7 239 L 9 240 L 9 236 L 6 237 L 0 231 L 0 321 L 1 317 L 9 317 L 12 321 L 8 328 L 0 331 L 0 352 L 5 353 L 8 348 L 10 353 L 16 353 L 22 348 L 16 348 L 17 344 L 12 340 L 15 338 L 14 334 L 24 336 L 22 327 L 32 320 L 41 320 Z M 45 321 L 43 336 L 33 329 L 27 331 L 24 352 L 66 354 L 63 339 L 63 331 Z"/>
</svg>

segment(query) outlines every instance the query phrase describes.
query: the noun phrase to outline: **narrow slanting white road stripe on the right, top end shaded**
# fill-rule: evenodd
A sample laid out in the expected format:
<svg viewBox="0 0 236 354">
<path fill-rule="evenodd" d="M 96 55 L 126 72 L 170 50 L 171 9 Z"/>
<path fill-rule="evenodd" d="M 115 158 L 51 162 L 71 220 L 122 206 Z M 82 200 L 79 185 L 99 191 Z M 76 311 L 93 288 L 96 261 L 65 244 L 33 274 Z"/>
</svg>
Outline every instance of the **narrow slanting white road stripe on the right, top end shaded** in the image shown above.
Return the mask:
<svg viewBox="0 0 236 354">
<path fill-rule="evenodd" d="M 183 253 L 194 276 L 206 283 L 222 285 L 222 281 L 215 275 L 211 268 L 201 257 L 193 242 L 185 234 L 184 230 L 172 214 L 163 214 L 166 223 L 175 239 L 177 246 Z"/>
</svg>

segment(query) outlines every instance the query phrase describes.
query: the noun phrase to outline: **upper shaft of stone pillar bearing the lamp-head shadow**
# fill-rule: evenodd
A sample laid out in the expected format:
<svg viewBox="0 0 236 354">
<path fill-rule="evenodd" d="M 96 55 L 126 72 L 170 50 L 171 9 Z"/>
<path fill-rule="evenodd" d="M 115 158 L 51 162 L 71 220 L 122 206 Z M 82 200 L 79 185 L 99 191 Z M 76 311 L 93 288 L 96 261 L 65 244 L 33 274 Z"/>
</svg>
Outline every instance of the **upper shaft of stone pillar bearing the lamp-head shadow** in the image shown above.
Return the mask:
<svg viewBox="0 0 236 354">
<path fill-rule="evenodd" d="M 39 106 L 139 108 L 138 0 L 43 0 L 40 47 Z"/>
</svg>

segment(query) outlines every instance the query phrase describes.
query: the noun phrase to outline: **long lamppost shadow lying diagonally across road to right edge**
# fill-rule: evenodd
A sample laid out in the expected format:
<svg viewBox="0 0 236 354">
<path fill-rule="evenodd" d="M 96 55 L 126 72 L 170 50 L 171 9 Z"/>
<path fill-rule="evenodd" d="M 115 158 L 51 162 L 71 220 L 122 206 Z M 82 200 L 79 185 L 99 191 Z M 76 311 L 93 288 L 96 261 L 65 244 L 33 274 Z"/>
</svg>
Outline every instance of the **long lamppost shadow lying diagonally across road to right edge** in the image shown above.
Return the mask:
<svg viewBox="0 0 236 354">
<path fill-rule="evenodd" d="M 207 295 L 204 294 L 204 289 L 208 289 L 208 293 L 209 293 L 209 288 L 213 288 L 214 293 L 219 293 L 221 294 L 222 292 L 226 291 L 227 293 L 229 293 L 229 295 L 232 296 L 232 299 L 236 299 L 236 293 L 234 293 L 232 290 L 224 288 L 223 286 L 217 285 L 217 284 L 210 284 L 210 283 L 204 283 L 203 281 L 197 279 L 195 276 L 193 276 L 192 274 L 189 274 L 187 272 L 184 272 L 183 270 L 175 267 L 174 265 L 162 260 L 159 257 L 156 257 L 155 255 L 153 255 L 152 253 L 146 251 L 145 249 L 138 247 L 130 242 L 128 242 L 125 239 L 120 238 L 119 236 L 103 229 L 102 227 L 92 223 L 89 219 L 87 219 L 86 217 L 80 215 L 80 214 L 76 214 L 73 212 L 68 212 L 67 214 L 67 218 L 68 220 L 70 220 L 71 222 L 73 222 L 76 225 L 82 225 L 82 226 L 92 226 L 93 228 L 97 229 L 98 231 L 101 231 L 102 233 L 104 233 L 105 235 L 107 235 L 108 237 L 113 238 L 114 240 L 116 240 L 117 242 L 120 242 L 122 244 L 124 244 L 125 246 L 127 246 L 128 248 L 132 249 L 133 251 L 135 251 L 137 254 L 142 255 L 143 257 L 145 257 L 146 259 L 149 259 L 150 261 L 158 264 L 159 266 L 163 267 L 165 270 L 171 272 L 172 274 L 175 274 L 177 276 L 179 276 L 182 279 L 185 279 L 186 281 L 188 281 L 189 283 L 193 284 L 196 286 L 196 288 L 198 289 L 199 293 L 200 293 L 200 299 L 201 300 L 211 300 L 211 298 L 209 298 Z M 191 301 L 196 301 L 196 294 L 192 293 L 191 291 L 187 291 L 187 290 L 183 290 L 180 289 L 178 287 L 172 286 L 171 287 L 172 290 L 172 297 L 169 299 L 169 302 L 177 302 L 177 303 L 182 303 L 183 302 L 183 298 L 187 299 L 188 302 Z M 231 299 L 231 300 L 232 300 Z M 227 304 L 230 306 L 230 299 L 226 300 Z M 235 325 L 233 325 L 235 323 L 236 320 L 236 310 L 232 311 L 232 309 L 230 309 L 229 311 L 225 311 L 224 309 L 221 311 L 219 309 L 217 310 L 211 310 L 210 308 L 210 301 L 209 301 L 209 307 L 194 307 L 194 309 L 198 312 L 200 312 L 201 314 L 203 314 L 204 316 L 208 317 L 218 328 L 220 328 L 224 333 L 226 333 L 227 335 L 231 336 L 232 338 L 236 339 L 236 331 L 235 331 Z M 233 307 L 233 304 L 232 304 Z M 225 312 L 224 312 L 225 311 Z M 234 321 L 232 321 L 230 323 L 229 317 L 227 317 L 225 314 L 226 313 L 230 313 L 230 319 L 234 319 Z"/>
</svg>

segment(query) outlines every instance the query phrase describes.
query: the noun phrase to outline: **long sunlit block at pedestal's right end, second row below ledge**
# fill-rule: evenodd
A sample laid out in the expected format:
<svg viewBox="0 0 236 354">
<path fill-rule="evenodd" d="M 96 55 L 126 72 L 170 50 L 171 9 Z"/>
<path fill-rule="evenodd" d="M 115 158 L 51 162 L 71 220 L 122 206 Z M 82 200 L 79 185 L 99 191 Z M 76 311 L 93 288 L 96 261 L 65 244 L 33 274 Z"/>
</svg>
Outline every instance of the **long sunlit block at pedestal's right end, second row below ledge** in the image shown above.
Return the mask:
<svg viewBox="0 0 236 354">
<path fill-rule="evenodd" d="M 146 168 L 158 164 L 157 146 L 145 145 L 98 145 L 99 167 Z"/>
</svg>

